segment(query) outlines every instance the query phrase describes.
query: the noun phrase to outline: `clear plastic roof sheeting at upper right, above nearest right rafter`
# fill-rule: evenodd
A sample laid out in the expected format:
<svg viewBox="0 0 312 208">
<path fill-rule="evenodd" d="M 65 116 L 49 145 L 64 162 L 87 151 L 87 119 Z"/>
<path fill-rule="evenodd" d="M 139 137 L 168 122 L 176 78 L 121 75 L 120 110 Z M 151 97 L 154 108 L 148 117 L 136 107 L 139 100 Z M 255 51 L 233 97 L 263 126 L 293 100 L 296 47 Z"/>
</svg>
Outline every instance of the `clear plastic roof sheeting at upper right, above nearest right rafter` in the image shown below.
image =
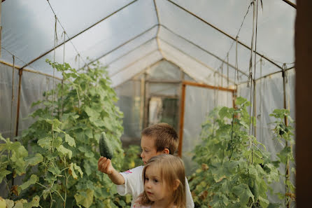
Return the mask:
<svg viewBox="0 0 312 208">
<path fill-rule="evenodd" d="M 239 32 L 244 15 L 249 11 L 241 27 L 239 41 L 250 46 L 253 28 L 253 6 L 250 6 L 250 1 L 200 0 L 196 4 L 192 1 L 171 1 L 234 38 Z M 293 26 L 295 24 L 295 8 L 281 0 L 262 0 L 262 3 L 263 10 L 260 1 L 258 3 L 257 51 L 281 63 L 294 62 L 295 52 L 292 46 L 294 45 L 295 36 Z M 210 26 L 206 25 L 206 27 Z M 268 35 L 269 39 L 267 39 Z M 223 57 L 229 50 L 229 48 L 226 49 Z"/>
</svg>

